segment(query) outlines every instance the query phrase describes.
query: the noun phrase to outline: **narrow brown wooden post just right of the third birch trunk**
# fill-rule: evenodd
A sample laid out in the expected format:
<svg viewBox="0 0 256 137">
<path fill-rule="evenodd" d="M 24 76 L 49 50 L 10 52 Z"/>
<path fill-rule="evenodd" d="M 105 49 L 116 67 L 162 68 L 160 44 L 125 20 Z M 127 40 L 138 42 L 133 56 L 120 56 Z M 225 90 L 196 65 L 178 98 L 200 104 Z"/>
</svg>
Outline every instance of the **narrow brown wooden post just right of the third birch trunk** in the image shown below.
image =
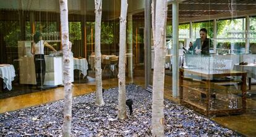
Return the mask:
<svg viewBox="0 0 256 137">
<path fill-rule="evenodd" d="M 132 14 L 128 15 L 127 20 L 127 60 L 128 60 L 128 77 L 133 78 L 133 66 L 132 66 Z"/>
</svg>

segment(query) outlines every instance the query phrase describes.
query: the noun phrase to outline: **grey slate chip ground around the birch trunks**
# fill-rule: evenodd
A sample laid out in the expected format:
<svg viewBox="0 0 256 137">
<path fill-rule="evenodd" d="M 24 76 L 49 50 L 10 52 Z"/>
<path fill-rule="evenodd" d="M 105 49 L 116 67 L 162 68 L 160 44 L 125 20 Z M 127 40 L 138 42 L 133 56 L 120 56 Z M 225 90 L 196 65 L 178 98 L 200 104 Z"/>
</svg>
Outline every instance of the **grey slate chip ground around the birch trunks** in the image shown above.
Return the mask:
<svg viewBox="0 0 256 137">
<path fill-rule="evenodd" d="M 104 93 L 105 107 L 94 105 L 95 94 L 73 98 L 72 136 L 151 136 L 152 94 L 137 85 L 126 86 L 134 112 L 118 120 L 118 89 Z M 0 136 L 61 136 L 64 101 L 0 114 Z M 241 136 L 194 110 L 164 100 L 165 136 Z"/>
</svg>

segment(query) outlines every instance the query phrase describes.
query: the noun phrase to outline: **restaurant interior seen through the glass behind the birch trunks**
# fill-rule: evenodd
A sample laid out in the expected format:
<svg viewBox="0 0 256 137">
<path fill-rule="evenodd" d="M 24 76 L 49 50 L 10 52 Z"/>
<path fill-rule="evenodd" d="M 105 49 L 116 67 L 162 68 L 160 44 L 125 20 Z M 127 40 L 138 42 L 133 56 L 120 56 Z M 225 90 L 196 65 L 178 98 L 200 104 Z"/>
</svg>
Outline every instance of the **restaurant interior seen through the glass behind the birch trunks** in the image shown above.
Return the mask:
<svg viewBox="0 0 256 137">
<path fill-rule="evenodd" d="M 92 0 L 68 2 L 73 96 L 80 96 L 95 91 L 95 8 Z M 157 56 L 151 35 L 151 9 L 147 7 L 150 2 L 128 1 L 126 30 L 126 83 L 143 86 L 149 92 Z M 59 1 L 0 3 L 0 114 L 63 99 Z M 101 68 L 105 89 L 118 86 L 120 7 L 117 0 L 104 0 L 102 4 Z M 179 1 L 176 44 L 174 10 L 173 1 L 168 1 L 164 98 L 242 135 L 254 136 L 256 1 Z M 207 56 L 187 52 L 190 42 L 200 38 L 201 28 L 206 28 L 212 42 Z M 36 73 L 31 53 L 36 32 L 56 49 L 43 49 L 45 73 Z M 174 87 L 178 91 L 173 92 Z"/>
</svg>

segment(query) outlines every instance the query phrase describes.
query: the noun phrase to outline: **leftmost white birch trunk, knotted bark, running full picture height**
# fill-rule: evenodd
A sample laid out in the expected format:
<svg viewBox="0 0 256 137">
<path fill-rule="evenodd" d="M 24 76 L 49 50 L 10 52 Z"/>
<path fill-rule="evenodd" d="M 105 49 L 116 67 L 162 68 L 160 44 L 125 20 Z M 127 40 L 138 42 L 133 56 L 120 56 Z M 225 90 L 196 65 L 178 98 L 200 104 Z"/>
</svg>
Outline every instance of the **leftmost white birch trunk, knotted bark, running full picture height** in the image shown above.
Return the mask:
<svg viewBox="0 0 256 137">
<path fill-rule="evenodd" d="M 63 49 L 63 75 L 64 75 L 64 122 L 62 127 L 62 135 L 70 136 L 71 134 L 71 118 L 72 118 L 72 89 L 70 75 L 70 52 L 72 44 L 69 41 L 69 18 L 67 9 L 67 0 L 60 0 L 59 6 L 61 10 L 61 42 Z"/>
</svg>

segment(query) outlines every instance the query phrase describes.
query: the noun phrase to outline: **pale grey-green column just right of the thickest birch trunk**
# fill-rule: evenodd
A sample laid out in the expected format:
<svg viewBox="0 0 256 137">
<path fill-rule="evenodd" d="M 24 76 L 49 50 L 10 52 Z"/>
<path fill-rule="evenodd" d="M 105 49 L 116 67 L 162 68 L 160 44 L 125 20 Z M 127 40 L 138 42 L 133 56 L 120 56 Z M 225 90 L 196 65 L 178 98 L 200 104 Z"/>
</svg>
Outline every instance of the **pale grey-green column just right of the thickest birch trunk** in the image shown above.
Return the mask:
<svg viewBox="0 0 256 137">
<path fill-rule="evenodd" d="M 179 2 L 173 1 L 173 98 L 179 96 Z"/>
</svg>

